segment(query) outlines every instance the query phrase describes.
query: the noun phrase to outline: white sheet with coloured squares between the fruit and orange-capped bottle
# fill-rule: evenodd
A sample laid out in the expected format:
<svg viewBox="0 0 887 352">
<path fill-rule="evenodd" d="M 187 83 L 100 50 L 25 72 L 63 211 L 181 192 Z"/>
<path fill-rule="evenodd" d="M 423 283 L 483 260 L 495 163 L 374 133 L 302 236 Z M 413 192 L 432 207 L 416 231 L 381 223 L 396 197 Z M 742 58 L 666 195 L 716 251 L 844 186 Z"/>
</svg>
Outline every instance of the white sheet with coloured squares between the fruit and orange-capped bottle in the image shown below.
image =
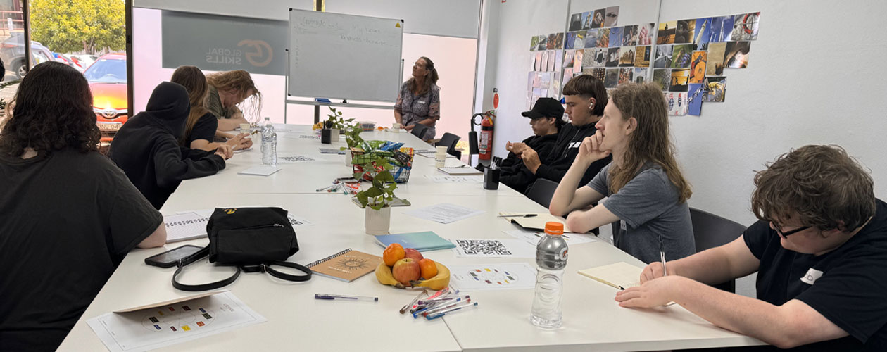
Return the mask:
<svg viewBox="0 0 887 352">
<path fill-rule="evenodd" d="M 450 265 L 450 286 L 461 292 L 532 289 L 536 270 L 525 262 Z"/>
</svg>

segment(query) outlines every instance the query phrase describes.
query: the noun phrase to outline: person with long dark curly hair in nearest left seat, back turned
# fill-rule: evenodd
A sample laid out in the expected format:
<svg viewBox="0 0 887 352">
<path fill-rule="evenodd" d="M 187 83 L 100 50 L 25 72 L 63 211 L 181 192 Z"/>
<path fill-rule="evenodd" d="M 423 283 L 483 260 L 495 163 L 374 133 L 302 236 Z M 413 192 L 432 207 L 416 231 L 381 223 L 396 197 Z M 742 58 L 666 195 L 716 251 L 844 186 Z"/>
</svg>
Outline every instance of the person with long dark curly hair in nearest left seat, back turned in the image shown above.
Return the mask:
<svg viewBox="0 0 887 352">
<path fill-rule="evenodd" d="M 0 132 L 0 350 L 51 351 L 136 246 L 163 246 L 163 217 L 100 136 L 83 74 L 60 62 L 21 80 Z"/>
</svg>

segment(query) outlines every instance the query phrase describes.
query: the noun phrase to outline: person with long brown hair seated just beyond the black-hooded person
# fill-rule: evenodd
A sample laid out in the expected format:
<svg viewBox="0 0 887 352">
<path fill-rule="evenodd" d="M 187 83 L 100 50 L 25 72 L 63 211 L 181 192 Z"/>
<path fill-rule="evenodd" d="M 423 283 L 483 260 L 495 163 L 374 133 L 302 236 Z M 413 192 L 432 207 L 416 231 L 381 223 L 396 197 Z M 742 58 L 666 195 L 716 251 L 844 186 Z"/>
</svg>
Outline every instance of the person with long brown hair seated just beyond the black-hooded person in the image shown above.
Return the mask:
<svg viewBox="0 0 887 352">
<path fill-rule="evenodd" d="M 172 73 L 169 82 L 178 83 L 188 90 L 188 100 L 191 103 L 191 112 L 188 113 L 188 120 L 184 122 L 181 145 L 201 151 L 216 150 L 223 143 L 213 142 L 218 129 L 218 120 L 216 115 L 207 110 L 205 104 L 209 93 L 207 77 L 196 66 L 179 66 Z M 224 144 L 231 145 L 235 151 L 247 149 L 253 145 L 253 140 L 247 138 L 248 136 L 247 133 L 239 133 Z"/>
</svg>

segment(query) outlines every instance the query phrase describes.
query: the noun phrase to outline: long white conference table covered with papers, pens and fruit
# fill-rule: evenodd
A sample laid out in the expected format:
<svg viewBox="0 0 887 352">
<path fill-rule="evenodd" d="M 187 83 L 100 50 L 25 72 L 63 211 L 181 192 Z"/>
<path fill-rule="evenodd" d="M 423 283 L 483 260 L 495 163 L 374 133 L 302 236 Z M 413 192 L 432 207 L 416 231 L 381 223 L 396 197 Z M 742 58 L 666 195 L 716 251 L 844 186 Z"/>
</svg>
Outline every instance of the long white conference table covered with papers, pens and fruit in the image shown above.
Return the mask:
<svg viewBox="0 0 887 352">
<path fill-rule="evenodd" d="M 279 163 L 281 170 L 271 176 L 239 175 L 238 171 L 261 164 L 258 143 L 254 150 L 238 153 L 216 176 L 183 182 L 166 205 L 164 215 L 214 207 L 274 206 L 287 209 L 310 222 L 296 227 L 300 251 L 290 262 L 306 264 L 344 248 L 381 255 L 382 247 L 364 232 L 364 209 L 349 196 L 316 192 L 333 179 L 349 176 L 344 156 L 321 154 L 321 145 L 308 126 L 279 125 L 278 155 L 308 156 L 315 160 Z M 365 132 L 365 139 L 404 142 L 416 149 L 432 149 L 408 133 Z M 256 140 L 258 142 L 258 140 Z M 447 166 L 462 162 L 448 159 Z M 444 239 L 513 239 L 504 231 L 514 224 L 496 218 L 500 211 L 545 212 L 544 207 L 523 197 L 504 184 L 498 190 L 484 190 L 482 184 L 441 184 L 431 176 L 443 176 L 434 160 L 416 156 L 406 184 L 398 184 L 396 195 L 408 199 L 410 207 L 393 207 L 391 233 L 435 231 Z M 404 212 L 452 203 L 483 210 L 454 223 L 436 223 Z M 161 269 L 145 264 L 145 257 L 193 244 L 206 246 L 208 239 L 192 239 L 164 248 L 135 249 L 86 309 L 59 350 L 103 350 L 104 344 L 86 321 L 108 312 L 167 301 L 191 295 L 170 284 L 175 268 Z M 527 262 L 529 258 L 466 258 L 451 250 L 423 253 L 445 265 Z M 563 284 L 563 325 L 544 330 L 530 324 L 532 289 L 475 291 L 468 294 L 478 302 L 477 309 L 447 315 L 441 319 L 413 319 L 397 311 L 417 294 L 415 291 L 382 286 L 373 273 L 350 283 L 314 276 L 304 283 L 291 283 L 269 275 L 244 273 L 231 286 L 241 301 L 267 322 L 230 332 L 179 343 L 163 350 L 305 350 L 305 351 L 533 351 L 558 348 L 561 351 L 643 351 L 680 348 L 711 348 L 761 345 L 763 342 L 711 325 L 679 305 L 659 309 L 620 308 L 616 289 L 577 274 L 578 270 L 614 262 L 643 262 L 603 240 L 569 248 Z M 193 267 L 193 268 L 191 268 Z M 189 266 L 185 283 L 198 284 L 226 278 L 230 268 L 203 262 Z M 314 293 L 376 296 L 376 303 L 315 300 Z M 362 304 L 363 303 L 363 304 Z"/>
</svg>

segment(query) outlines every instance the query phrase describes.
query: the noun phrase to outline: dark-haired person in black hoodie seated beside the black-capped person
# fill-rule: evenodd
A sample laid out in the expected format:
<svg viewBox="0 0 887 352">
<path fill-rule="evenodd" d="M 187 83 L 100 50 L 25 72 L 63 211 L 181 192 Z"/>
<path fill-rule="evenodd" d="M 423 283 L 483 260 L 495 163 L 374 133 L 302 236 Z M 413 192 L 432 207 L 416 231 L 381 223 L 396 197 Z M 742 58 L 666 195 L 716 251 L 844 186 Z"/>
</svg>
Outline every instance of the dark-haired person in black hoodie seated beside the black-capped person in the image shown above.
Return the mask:
<svg viewBox="0 0 887 352">
<path fill-rule="evenodd" d="M 563 87 L 563 95 L 567 101 L 566 112 L 570 123 L 564 125 L 558 132 L 557 142 L 552 153 L 547 157 L 538 153 L 533 148 L 523 148 L 515 153 L 523 161 L 522 171 L 528 177 L 530 184 L 537 178 L 545 178 L 554 182 L 561 182 L 561 178 L 567 173 L 569 166 L 579 151 L 579 145 L 585 137 L 593 136 L 597 130 L 594 123 L 600 120 L 600 115 L 607 106 L 607 90 L 604 90 L 603 82 L 594 78 L 591 74 L 582 74 L 567 82 Z M 541 157 L 546 157 L 543 162 Z M 593 162 L 585 170 L 580 184 L 587 184 L 592 177 L 598 174 L 600 168 L 607 165 L 611 158 Z M 529 190 L 518 190 L 528 192 Z"/>
</svg>

